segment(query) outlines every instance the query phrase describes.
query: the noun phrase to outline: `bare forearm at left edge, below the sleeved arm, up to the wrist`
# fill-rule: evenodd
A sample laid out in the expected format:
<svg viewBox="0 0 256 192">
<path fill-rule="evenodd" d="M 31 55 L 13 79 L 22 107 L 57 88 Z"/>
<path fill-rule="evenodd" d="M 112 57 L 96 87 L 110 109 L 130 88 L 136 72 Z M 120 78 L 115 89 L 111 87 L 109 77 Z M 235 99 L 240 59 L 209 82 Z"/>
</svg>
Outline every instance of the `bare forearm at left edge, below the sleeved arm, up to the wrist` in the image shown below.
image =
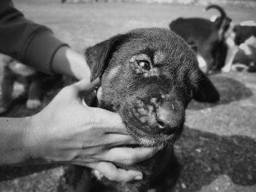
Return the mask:
<svg viewBox="0 0 256 192">
<path fill-rule="evenodd" d="M 29 118 L 0 118 L 0 165 L 26 164 L 29 152 L 23 139 Z"/>
</svg>

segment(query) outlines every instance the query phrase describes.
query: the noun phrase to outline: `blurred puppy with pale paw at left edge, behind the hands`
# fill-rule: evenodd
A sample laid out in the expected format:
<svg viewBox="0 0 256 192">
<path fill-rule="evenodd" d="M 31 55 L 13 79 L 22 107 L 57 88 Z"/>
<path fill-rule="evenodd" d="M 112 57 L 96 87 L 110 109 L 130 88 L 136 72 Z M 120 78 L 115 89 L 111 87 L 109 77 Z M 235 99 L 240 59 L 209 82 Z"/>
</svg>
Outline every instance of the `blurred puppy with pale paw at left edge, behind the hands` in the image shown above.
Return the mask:
<svg viewBox="0 0 256 192">
<path fill-rule="evenodd" d="M 41 90 L 45 80 L 50 80 L 53 76 L 36 72 L 29 66 L 21 64 L 9 56 L 4 55 L 4 72 L 1 82 L 1 104 L 0 114 L 7 112 L 12 107 L 12 91 L 15 82 L 20 82 L 25 87 L 25 92 L 29 93 L 26 101 L 28 109 L 36 109 L 41 105 Z M 60 80 L 60 75 L 55 75 L 53 81 Z M 48 85 L 49 86 L 49 85 Z"/>
</svg>

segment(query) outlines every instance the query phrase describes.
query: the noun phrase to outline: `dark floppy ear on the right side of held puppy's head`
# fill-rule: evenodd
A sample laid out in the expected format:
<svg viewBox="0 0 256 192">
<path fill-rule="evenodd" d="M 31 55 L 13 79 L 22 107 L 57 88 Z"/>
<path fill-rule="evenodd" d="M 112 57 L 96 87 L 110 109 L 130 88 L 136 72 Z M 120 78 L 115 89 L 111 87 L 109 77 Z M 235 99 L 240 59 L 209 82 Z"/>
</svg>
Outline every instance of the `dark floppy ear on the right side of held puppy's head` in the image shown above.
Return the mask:
<svg viewBox="0 0 256 192">
<path fill-rule="evenodd" d="M 200 102 L 215 103 L 219 101 L 219 92 L 206 74 L 200 71 L 199 85 L 193 91 L 193 99 Z"/>
</svg>

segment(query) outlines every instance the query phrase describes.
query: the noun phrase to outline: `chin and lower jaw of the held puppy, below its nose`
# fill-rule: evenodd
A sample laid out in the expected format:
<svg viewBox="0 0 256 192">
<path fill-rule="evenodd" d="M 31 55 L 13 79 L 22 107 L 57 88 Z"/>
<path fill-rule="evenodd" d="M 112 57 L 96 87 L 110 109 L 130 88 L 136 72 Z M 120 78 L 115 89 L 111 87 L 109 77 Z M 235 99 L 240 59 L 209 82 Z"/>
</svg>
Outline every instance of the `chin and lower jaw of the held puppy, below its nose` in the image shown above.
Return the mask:
<svg viewBox="0 0 256 192">
<path fill-rule="evenodd" d="M 150 147 L 150 146 L 162 146 L 167 147 L 173 145 L 178 140 L 183 131 L 183 126 L 178 128 L 173 134 L 148 134 L 140 128 L 131 128 L 127 126 L 129 134 L 135 138 L 139 145 Z"/>
</svg>

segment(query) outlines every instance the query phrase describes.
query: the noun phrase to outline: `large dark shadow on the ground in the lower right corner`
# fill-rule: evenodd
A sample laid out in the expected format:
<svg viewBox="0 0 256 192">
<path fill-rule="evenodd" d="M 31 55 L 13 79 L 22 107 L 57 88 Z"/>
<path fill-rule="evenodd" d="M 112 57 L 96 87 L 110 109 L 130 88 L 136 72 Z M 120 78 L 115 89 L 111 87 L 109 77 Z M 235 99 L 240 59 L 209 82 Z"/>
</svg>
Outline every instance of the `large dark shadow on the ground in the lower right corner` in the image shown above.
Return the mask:
<svg viewBox="0 0 256 192">
<path fill-rule="evenodd" d="M 182 191 L 198 191 L 225 174 L 235 185 L 256 185 L 256 142 L 243 136 L 219 136 L 185 128 L 176 145 L 182 165 L 178 181 Z"/>
</svg>

